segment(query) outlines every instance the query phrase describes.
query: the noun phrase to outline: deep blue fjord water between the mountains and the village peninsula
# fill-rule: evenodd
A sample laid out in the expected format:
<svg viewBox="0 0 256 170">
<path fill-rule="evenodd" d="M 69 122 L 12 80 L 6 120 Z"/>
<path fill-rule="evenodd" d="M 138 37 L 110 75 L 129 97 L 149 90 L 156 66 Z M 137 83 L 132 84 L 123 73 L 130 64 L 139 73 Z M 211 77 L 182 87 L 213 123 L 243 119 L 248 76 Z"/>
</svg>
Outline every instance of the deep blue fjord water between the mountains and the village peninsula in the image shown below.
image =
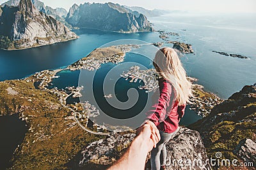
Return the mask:
<svg viewBox="0 0 256 170">
<path fill-rule="evenodd" d="M 159 41 L 157 32 L 122 34 L 81 29 L 79 39 L 26 50 L 0 50 L 0 81 L 24 78 L 37 71 L 68 66 L 86 57 L 95 48 L 117 39 Z"/>
</svg>

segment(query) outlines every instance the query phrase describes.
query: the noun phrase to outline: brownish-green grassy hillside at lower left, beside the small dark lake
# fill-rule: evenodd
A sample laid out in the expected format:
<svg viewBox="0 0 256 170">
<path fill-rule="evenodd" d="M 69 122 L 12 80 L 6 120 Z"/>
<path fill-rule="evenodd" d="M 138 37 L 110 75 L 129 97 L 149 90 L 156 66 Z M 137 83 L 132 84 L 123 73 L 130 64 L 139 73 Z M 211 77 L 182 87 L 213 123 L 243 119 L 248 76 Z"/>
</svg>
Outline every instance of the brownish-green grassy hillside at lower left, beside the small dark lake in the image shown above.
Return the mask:
<svg viewBox="0 0 256 170">
<path fill-rule="evenodd" d="M 58 96 L 36 90 L 31 81 L 0 82 L 1 115 L 19 114 L 28 132 L 13 157 L 13 169 L 65 169 L 83 146 L 101 136 L 79 127 Z"/>
</svg>

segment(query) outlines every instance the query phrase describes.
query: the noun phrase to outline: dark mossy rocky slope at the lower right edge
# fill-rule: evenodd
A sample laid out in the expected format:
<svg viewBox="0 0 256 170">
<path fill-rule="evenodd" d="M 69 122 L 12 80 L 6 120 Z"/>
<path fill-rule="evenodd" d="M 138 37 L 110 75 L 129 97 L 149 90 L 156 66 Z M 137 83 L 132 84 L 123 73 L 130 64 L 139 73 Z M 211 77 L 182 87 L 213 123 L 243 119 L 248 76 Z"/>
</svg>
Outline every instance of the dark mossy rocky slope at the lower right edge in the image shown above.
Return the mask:
<svg viewBox="0 0 256 170">
<path fill-rule="evenodd" d="M 239 159 L 256 165 L 256 87 L 243 87 L 190 127 L 200 132 L 211 157 L 221 152 L 221 159 Z"/>
</svg>

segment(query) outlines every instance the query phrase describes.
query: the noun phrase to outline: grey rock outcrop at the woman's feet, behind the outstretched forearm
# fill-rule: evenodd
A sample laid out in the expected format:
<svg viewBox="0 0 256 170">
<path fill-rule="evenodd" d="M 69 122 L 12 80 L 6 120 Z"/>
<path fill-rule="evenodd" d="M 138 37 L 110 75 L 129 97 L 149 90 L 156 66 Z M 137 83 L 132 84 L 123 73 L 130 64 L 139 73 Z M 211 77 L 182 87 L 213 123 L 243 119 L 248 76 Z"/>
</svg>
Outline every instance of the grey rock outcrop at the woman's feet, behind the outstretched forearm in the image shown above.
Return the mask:
<svg viewBox="0 0 256 170">
<path fill-rule="evenodd" d="M 106 139 L 100 139 L 93 142 L 83 149 L 81 154 L 77 155 L 76 161 L 72 161 L 70 167 L 75 169 L 106 169 L 113 164 L 116 159 L 119 159 L 122 153 L 134 138 L 133 133 L 128 134 L 111 134 Z M 180 127 L 179 132 L 175 137 L 166 144 L 168 152 L 168 160 L 166 164 L 168 169 L 180 169 L 182 165 L 177 164 L 177 160 L 182 161 L 202 160 L 200 164 L 191 164 L 190 166 L 182 167 L 183 169 L 211 169 L 209 164 L 204 164 L 207 160 L 204 144 L 200 138 L 200 134 L 196 131 L 191 131 L 188 128 Z M 150 159 L 150 155 L 148 155 Z M 150 160 L 147 159 L 146 169 L 150 169 Z M 176 162 L 175 162 L 176 161 Z M 184 164 L 183 162 L 183 164 Z"/>
</svg>

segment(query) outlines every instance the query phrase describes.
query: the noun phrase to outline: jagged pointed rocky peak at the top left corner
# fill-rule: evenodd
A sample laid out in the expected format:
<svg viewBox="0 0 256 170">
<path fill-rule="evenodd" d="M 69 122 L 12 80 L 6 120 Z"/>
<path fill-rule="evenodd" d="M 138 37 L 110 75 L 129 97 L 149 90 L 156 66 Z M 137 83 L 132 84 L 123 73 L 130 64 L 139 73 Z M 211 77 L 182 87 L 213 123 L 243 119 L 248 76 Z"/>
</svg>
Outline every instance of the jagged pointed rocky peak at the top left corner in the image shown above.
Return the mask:
<svg viewBox="0 0 256 170">
<path fill-rule="evenodd" d="M 1 48 L 31 48 L 77 38 L 65 25 L 36 9 L 31 0 L 21 0 L 19 6 L 4 6 L 2 10 L 0 35 L 11 42 Z"/>
</svg>

